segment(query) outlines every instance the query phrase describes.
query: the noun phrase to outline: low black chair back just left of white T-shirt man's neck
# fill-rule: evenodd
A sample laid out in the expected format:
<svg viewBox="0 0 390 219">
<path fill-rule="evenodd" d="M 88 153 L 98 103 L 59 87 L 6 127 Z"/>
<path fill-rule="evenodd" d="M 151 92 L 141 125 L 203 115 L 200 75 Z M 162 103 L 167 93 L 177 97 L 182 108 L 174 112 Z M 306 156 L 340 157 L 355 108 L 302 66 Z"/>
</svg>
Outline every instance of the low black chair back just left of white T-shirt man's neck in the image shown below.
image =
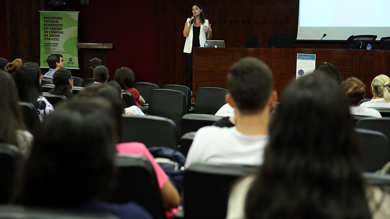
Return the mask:
<svg viewBox="0 0 390 219">
<path fill-rule="evenodd" d="M 184 135 L 190 131 L 197 131 L 199 128 L 205 126 L 212 126 L 213 123 L 222 119 L 223 117 L 210 115 L 210 114 L 198 114 L 188 113 L 180 119 L 180 131 L 181 135 Z"/>
</svg>

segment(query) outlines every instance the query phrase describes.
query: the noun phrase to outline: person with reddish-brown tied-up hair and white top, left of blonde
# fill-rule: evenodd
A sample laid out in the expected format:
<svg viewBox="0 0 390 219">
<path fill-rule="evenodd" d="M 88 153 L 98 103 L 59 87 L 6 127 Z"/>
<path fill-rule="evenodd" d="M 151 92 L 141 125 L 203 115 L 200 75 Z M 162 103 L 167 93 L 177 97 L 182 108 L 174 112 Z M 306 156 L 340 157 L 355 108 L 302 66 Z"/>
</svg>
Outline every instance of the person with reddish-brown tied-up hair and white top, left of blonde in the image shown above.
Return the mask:
<svg viewBox="0 0 390 219">
<path fill-rule="evenodd" d="M 341 88 L 347 93 L 351 114 L 382 117 L 378 110 L 360 106 L 364 95 L 366 95 L 366 85 L 361 80 L 356 77 L 350 77 L 341 83 Z"/>
</svg>

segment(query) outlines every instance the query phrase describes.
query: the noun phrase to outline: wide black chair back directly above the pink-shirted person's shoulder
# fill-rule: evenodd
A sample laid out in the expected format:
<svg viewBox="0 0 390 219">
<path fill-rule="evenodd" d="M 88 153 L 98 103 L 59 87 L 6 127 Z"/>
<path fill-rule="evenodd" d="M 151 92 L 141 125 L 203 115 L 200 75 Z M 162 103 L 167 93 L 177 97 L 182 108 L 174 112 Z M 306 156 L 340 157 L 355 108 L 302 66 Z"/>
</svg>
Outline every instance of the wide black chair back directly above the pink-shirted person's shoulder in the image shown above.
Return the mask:
<svg viewBox="0 0 390 219">
<path fill-rule="evenodd" d="M 174 121 L 159 116 L 122 116 L 122 142 L 141 142 L 147 147 L 177 148 L 177 129 Z"/>
</svg>

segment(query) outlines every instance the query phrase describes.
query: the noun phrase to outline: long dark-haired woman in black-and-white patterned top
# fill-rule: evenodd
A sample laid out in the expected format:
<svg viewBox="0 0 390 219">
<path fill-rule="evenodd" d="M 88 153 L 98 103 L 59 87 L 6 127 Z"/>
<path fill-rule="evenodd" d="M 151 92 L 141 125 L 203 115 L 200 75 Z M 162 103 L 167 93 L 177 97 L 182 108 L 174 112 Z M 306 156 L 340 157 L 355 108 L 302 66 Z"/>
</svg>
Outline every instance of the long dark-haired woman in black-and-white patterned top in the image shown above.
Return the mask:
<svg viewBox="0 0 390 219">
<path fill-rule="evenodd" d="M 40 69 L 37 63 L 26 62 L 22 64 L 15 72 L 14 79 L 20 101 L 32 103 L 38 110 L 40 121 L 54 110 L 49 101 L 42 96 Z"/>
</svg>

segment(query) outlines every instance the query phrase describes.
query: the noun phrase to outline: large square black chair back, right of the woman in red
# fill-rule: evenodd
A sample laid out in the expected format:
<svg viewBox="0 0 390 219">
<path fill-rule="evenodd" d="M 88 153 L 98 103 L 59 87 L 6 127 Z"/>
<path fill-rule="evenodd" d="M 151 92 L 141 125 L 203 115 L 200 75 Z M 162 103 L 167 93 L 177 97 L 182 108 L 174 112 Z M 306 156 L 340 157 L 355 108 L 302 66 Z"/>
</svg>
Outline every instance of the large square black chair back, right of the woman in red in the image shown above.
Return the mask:
<svg viewBox="0 0 390 219">
<path fill-rule="evenodd" d="M 181 91 L 155 89 L 150 94 L 149 115 L 172 119 L 180 130 L 180 119 L 187 113 L 185 95 Z"/>
</svg>

